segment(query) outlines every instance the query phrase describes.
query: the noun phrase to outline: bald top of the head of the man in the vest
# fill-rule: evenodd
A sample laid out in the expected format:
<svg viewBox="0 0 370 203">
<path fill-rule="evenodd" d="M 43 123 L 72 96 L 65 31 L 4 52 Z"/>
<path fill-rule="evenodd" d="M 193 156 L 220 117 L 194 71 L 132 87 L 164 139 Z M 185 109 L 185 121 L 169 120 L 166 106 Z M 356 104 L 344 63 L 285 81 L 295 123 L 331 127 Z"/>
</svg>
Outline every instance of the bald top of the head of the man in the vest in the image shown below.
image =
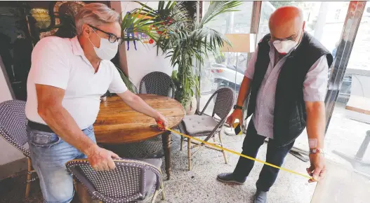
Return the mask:
<svg viewBox="0 0 370 203">
<path fill-rule="evenodd" d="M 284 39 L 291 36 L 299 36 L 300 30 L 304 30 L 303 11 L 296 6 L 283 6 L 277 8 L 271 14 L 269 20 L 272 40 Z"/>
</svg>

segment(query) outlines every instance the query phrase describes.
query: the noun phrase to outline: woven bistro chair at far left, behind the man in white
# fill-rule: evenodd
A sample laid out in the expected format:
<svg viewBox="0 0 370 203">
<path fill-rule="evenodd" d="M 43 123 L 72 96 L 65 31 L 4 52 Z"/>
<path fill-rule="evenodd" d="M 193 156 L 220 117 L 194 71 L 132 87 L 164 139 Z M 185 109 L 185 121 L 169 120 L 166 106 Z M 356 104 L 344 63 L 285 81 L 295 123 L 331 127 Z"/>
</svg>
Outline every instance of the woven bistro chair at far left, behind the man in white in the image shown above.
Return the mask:
<svg viewBox="0 0 370 203">
<path fill-rule="evenodd" d="M 27 158 L 28 167 L 25 193 L 25 197 L 27 198 L 31 189 L 31 182 L 35 181 L 37 176 L 32 178 L 32 174 L 35 171 L 32 168 L 31 153 L 25 148 L 25 144 L 28 141 L 25 105 L 26 102 L 20 100 L 11 100 L 0 104 L 0 135 Z"/>
</svg>

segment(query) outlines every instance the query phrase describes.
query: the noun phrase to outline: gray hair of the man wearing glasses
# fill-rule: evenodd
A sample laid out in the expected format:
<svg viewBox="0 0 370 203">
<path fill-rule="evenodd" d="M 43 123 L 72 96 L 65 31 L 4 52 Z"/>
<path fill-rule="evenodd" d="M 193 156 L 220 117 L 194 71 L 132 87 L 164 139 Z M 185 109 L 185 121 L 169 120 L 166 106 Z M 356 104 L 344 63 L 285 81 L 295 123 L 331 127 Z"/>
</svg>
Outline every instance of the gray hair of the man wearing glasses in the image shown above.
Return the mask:
<svg viewBox="0 0 370 203">
<path fill-rule="evenodd" d="M 119 22 L 119 13 L 103 3 L 88 3 L 74 17 L 77 34 L 82 33 L 82 26 L 89 24 L 94 27 L 105 23 Z"/>
</svg>

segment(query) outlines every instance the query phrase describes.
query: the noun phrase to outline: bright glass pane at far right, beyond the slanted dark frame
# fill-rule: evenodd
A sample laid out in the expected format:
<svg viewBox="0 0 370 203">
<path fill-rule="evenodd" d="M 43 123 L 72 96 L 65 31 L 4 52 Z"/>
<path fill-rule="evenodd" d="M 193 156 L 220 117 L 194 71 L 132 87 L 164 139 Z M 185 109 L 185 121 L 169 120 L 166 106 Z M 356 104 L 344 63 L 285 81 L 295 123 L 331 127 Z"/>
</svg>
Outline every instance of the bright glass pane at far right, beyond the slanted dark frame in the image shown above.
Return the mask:
<svg viewBox="0 0 370 203">
<path fill-rule="evenodd" d="M 326 132 L 326 158 L 370 174 L 370 5 L 352 48 L 341 91 Z M 367 149 L 367 151 L 366 151 Z M 367 166 L 364 164 L 367 162 Z"/>
</svg>

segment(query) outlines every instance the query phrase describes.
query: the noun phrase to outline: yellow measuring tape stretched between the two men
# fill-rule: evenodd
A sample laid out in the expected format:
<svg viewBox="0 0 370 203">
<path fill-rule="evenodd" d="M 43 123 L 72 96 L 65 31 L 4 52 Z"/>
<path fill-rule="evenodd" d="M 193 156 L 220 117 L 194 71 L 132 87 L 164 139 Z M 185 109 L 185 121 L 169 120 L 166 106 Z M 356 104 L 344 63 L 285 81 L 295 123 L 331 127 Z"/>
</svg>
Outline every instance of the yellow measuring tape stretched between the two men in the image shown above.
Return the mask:
<svg viewBox="0 0 370 203">
<path fill-rule="evenodd" d="M 270 164 L 270 163 L 264 162 L 263 160 L 258 160 L 258 159 L 256 159 L 256 158 L 251 158 L 250 156 L 247 156 L 247 155 L 244 155 L 244 154 L 241 154 L 241 153 L 237 153 L 236 151 L 232 151 L 232 150 L 230 150 L 230 149 L 220 147 L 220 146 L 218 146 L 218 145 L 216 145 L 216 144 L 211 144 L 211 143 L 206 142 L 206 141 L 203 141 L 203 140 L 201 140 L 201 139 L 197 139 L 196 137 L 190 137 L 189 135 L 187 135 L 187 134 L 183 134 L 183 133 L 181 133 L 181 132 L 177 132 L 176 130 L 171 130 L 171 129 L 169 129 L 169 128 L 166 128 L 166 130 L 169 130 L 169 131 L 174 132 L 174 133 L 176 133 L 176 134 L 180 134 L 180 135 L 182 135 L 183 137 L 187 137 L 187 139 L 194 139 L 194 140 L 196 140 L 196 141 L 199 141 L 199 142 L 201 142 L 201 143 L 203 143 L 203 144 L 206 144 L 206 145 L 212 146 L 212 147 L 214 147 L 214 148 L 218 148 L 218 149 L 220 149 L 220 150 L 230 152 L 230 153 L 232 153 L 232 154 L 234 154 L 234 155 L 239 155 L 239 156 L 241 156 L 241 157 L 247 158 L 247 159 L 249 159 L 249 160 L 253 160 L 253 161 L 255 161 L 255 162 L 260 162 L 261 164 L 264 164 L 264 165 L 267 165 L 267 166 L 270 166 L 270 167 L 274 167 L 274 168 L 277 168 L 277 169 L 280 169 L 280 170 L 283 170 L 283 171 L 286 171 L 286 172 L 289 172 L 289 173 L 292 173 L 292 174 L 296 174 L 296 175 L 298 175 L 298 176 L 303 176 L 303 177 L 305 177 L 306 179 L 313 179 L 311 176 L 308 176 L 308 175 L 305 175 L 305 174 L 300 174 L 300 173 L 298 173 L 298 172 L 294 172 L 294 171 L 292 171 L 292 170 L 285 169 L 285 168 L 283 168 L 283 167 L 278 167 L 277 165 L 272 165 L 272 164 Z"/>
</svg>

